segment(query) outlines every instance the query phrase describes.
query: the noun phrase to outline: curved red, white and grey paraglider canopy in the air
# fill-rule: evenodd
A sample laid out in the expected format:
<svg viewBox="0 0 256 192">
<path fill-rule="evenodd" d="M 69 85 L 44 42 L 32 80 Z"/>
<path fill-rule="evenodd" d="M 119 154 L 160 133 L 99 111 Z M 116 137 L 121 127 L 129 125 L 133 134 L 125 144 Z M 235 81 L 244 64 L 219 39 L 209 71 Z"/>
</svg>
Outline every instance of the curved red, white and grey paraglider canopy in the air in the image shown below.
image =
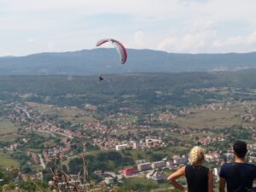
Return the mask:
<svg viewBox="0 0 256 192">
<path fill-rule="evenodd" d="M 111 42 L 113 44 L 113 46 L 115 47 L 115 49 L 118 51 L 119 53 L 119 57 L 121 60 L 122 64 L 125 64 L 125 61 L 127 60 L 127 52 L 125 49 L 125 46 L 123 44 L 121 44 L 119 41 L 113 39 L 113 38 L 104 38 L 102 40 L 100 40 L 96 46 L 101 46 L 102 44 L 105 44 L 107 42 Z"/>
</svg>

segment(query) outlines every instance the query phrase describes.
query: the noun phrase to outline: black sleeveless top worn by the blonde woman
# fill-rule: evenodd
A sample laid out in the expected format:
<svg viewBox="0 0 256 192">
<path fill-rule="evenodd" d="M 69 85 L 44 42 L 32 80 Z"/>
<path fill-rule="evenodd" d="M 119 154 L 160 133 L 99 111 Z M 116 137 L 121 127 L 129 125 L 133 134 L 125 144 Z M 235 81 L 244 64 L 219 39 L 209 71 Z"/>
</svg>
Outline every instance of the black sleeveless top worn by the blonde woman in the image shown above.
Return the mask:
<svg viewBox="0 0 256 192">
<path fill-rule="evenodd" d="M 185 176 L 189 192 L 208 191 L 208 172 L 209 169 L 206 166 L 186 166 Z"/>
</svg>

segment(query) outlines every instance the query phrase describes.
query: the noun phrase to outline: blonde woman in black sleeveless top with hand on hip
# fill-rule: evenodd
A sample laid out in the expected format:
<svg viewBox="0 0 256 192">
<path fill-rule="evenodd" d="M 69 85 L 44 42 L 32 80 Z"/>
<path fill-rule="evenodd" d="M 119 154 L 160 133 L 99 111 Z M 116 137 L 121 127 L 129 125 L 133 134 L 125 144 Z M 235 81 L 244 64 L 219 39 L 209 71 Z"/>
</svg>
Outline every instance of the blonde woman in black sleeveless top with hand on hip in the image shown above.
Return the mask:
<svg viewBox="0 0 256 192">
<path fill-rule="evenodd" d="M 182 190 L 183 192 L 213 192 L 213 177 L 212 171 L 206 166 L 202 166 L 204 160 L 204 149 L 194 147 L 189 153 L 188 166 L 183 166 L 177 172 L 172 173 L 167 180 L 172 185 Z M 177 183 L 178 177 L 185 176 L 188 183 L 188 189 L 185 189 L 181 184 Z"/>
</svg>

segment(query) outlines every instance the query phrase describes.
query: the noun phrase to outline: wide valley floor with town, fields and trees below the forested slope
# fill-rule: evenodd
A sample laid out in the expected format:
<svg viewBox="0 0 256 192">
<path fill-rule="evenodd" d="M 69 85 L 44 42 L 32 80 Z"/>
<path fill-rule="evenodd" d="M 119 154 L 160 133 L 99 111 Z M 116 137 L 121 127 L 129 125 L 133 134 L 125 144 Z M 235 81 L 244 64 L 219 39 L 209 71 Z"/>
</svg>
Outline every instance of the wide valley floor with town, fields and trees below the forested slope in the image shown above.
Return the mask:
<svg viewBox="0 0 256 192">
<path fill-rule="evenodd" d="M 32 178 L 56 189 L 70 182 L 133 189 L 139 182 L 144 185 L 136 190 L 150 186 L 164 191 L 171 187 L 166 177 L 189 163 L 194 146 L 205 148 L 205 163 L 212 167 L 216 184 L 220 166 L 234 158 L 231 145 L 236 139 L 247 141 L 247 161 L 256 162 L 255 90 L 187 89 L 177 100 L 163 102 L 175 95 L 170 91 L 154 90 L 157 104 L 152 106 L 150 97 L 138 99 L 134 91 L 118 96 L 121 102 L 113 99 L 116 95 L 97 102 L 90 95 L 65 91 L 44 96 L 3 92 L 0 168 L 5 174 L 15 172 L 15 182 Z M 199 96 L 203 102 L 193 100 Z M 180 98 L 186 97 L 191 99 L 181 105 Z"/>
</svg>

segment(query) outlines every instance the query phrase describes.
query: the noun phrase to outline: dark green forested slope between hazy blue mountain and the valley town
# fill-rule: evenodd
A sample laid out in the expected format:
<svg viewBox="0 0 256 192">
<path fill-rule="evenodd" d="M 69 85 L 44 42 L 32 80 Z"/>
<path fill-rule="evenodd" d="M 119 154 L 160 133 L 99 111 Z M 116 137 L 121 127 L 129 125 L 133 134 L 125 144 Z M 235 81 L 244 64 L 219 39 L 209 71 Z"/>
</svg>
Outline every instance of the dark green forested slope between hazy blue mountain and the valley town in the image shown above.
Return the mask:
<svg viewBox="0 0 256 192">
<path fill-rule="evenodd" d="M 219 73 L 126 73 L 97 76 L 2 76 L 0 96 L 3 100 L 73 105 L 97 105 L 102 110 L 118 108 L 154 108 L 160 105 L 202 104 L 209 99 L 221 100 L 216 92 L 189 92 L 191 89 L 256 87 L 256 70 Z M 233 97 L 242 99 L 235 94 Z M 223 98 L 226 99 L 226 98 Z"/>
</svg>

